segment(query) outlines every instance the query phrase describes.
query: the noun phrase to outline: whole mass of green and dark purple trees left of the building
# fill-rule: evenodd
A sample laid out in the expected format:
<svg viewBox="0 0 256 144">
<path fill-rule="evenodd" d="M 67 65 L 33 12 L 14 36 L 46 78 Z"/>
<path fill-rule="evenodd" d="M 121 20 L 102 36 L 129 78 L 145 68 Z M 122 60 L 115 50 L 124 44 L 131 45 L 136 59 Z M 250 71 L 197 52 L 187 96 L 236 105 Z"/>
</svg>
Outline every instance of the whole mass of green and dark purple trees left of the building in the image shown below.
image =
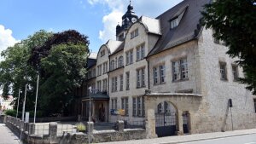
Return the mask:
<svg viewBox="0 0 256 144">
<path fill-rule="evenodd" d="M 73 30 L 60 33 L 42 30 L 4 50 L 4 60 L 0 62 L 3 95 L 18 97 L 20 89 L 21 106 L 28 84 L 26 110 L 33 110 L 39 74 L 38 110 L 49 116 L 63 113 L 73 100 L 73 89 L 85 78 L 87 38 Z"/>
</svg>

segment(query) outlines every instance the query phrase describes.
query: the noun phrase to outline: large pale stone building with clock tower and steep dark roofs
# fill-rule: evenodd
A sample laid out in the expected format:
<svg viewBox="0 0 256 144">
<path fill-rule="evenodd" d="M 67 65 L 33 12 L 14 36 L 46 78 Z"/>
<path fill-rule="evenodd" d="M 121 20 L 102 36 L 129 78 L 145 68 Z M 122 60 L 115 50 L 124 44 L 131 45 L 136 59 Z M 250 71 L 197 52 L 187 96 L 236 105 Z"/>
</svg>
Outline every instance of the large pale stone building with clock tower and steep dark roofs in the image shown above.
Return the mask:
<svg viewBox="0 0 256 144">
<path fill-rule="evenodd" d="M 81 115 L 88 118 L 91 95 L 94 121 L 145 121 L 148 137 L 256 128 L 241 67 L 201 26 L 206 3 L 184 0 L 156 18 L 138 17 L 130 3 L 116 40 L 90 56 Z"/>
</svg>

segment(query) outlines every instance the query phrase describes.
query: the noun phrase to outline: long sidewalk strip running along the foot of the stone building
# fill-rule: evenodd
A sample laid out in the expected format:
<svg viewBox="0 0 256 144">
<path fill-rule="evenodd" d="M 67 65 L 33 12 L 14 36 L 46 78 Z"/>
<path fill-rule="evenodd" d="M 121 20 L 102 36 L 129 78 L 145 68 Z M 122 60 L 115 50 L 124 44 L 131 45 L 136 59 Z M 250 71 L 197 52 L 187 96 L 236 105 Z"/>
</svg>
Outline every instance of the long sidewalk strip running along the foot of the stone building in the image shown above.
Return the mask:
<svg viewBox="0 0 256 144">
<path fill-rule="evenodd" d="M 195 135 L 168 136 L 155 139 L 133 140 L 133 141 L 111 141 L 102 144 L 175 144 L 181 142 L 203 141 L 209 139 L 218 139 L 236 135 L 256 134 L 256 129 L 250 130 L 234 130 L 226 132 L 215 132 Z"/>
</svg>

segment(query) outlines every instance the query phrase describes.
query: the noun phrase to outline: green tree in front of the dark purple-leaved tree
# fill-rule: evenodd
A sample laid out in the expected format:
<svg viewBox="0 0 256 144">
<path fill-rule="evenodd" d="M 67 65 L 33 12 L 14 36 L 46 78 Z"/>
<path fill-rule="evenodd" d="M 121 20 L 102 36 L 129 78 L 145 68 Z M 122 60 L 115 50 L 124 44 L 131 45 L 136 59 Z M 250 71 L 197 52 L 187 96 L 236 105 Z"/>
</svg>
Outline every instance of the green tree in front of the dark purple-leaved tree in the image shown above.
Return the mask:
<svg viewBox="0 0 256 144">
<path fill-rule="evenodd" d="M 73 99 L 73 89 L 79 87 L 86 74 L 86 51 L 82 44 L 58 44 L 41 60 L 42 69 L 49 77 L 41 85 L 44 109 L 60 112 Z M 61 107 L 61 108 L 60 108 Z"/>
</svg>

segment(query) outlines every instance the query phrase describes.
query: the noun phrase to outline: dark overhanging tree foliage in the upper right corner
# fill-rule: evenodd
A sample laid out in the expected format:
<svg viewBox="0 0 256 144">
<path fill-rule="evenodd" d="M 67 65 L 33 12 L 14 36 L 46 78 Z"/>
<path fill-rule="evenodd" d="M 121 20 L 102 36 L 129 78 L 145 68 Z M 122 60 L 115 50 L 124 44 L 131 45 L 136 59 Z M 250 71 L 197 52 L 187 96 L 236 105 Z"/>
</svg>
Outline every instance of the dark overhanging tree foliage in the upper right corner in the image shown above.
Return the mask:
<svg viewBox="0 0 256 144">
<path fill-rule="evenodd" d="M 241 83 L 256 95 L 256 1 L 216 0 L 205 6 L 203 24 L 214 31 L 213 37 L 229 48 L 230 57 L 243 68 Z"/>
</svg>

